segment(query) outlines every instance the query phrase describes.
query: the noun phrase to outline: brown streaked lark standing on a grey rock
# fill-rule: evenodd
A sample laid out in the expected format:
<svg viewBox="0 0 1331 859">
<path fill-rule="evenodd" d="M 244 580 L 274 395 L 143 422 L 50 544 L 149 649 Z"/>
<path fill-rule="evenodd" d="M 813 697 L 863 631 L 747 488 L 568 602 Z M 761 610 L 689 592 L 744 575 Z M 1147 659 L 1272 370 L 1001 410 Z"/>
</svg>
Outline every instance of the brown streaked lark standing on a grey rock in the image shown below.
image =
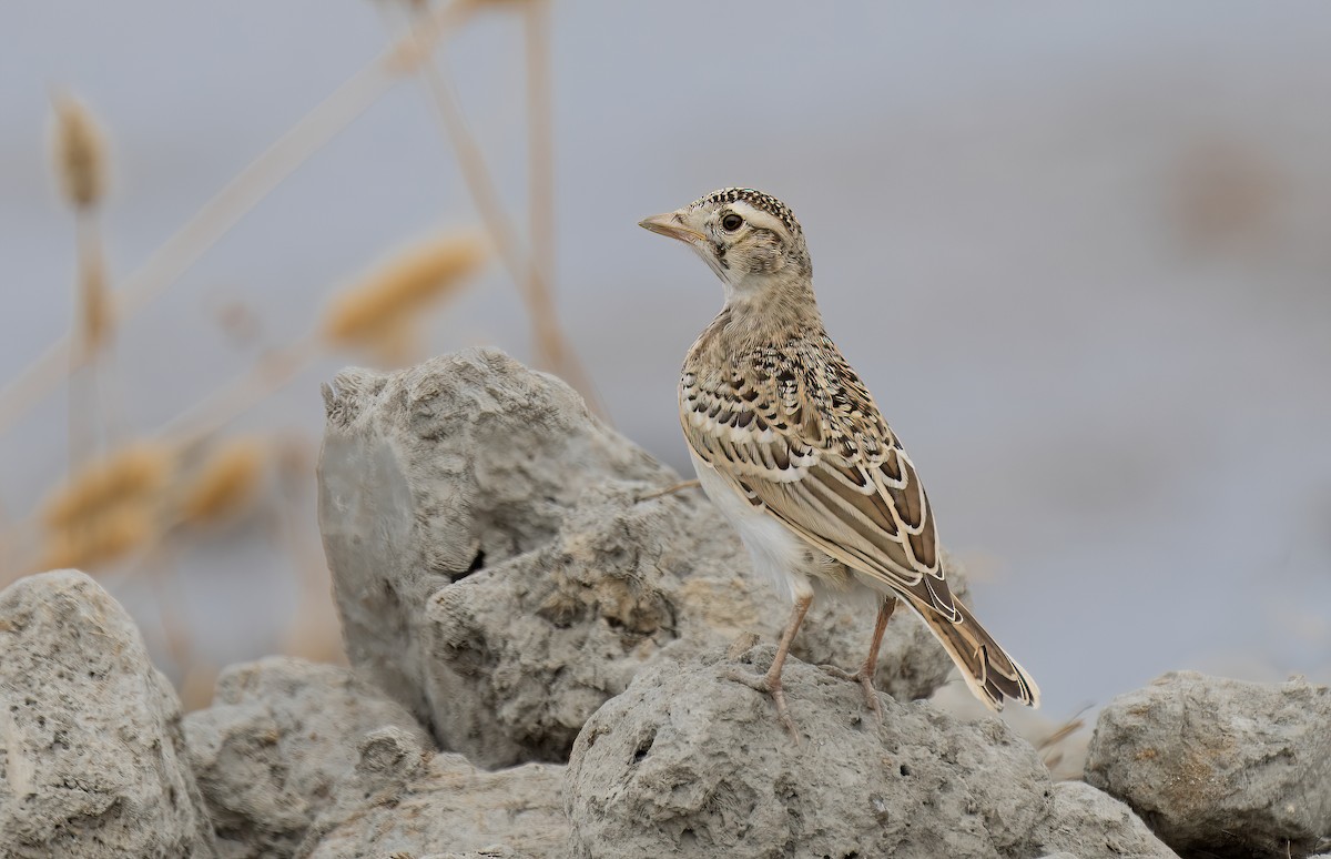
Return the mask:
<svg viewBox="0 0 1331 859">
<path fill-rule="evenodd" d="M 793 602 L 763 675 L 800 742 L 781 689 L 791 641 L 823 590 L 877 602 L 855 674 L 881 719 L 873 671 L 904 599 L 980 701 L 1038 706 L 1034 681 L 948 586 L 938 531 L 914 465 L 823 325 L 804 230 L 776 197 L 725 188 L 642 226 L 691 245 L 720 277 L 725 306 L 699 336 L 679 382 L 680 424 L 699 482 L 739 531 L 753 567 Z M 824 666 L 829 667 L 831 666 Z"/>
</svg>

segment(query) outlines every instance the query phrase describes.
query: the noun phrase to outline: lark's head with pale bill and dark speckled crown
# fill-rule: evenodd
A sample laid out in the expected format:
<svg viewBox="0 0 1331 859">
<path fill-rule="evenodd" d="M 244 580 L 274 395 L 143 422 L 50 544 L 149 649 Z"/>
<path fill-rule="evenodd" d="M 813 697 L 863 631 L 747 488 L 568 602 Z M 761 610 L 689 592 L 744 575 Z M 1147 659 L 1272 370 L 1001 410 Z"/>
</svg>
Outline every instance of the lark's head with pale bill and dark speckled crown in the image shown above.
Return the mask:
<svg viewBox="0 0 1331 859">
<path fill-rule="evenodd" d="M 752 188 L 724 188 L 639 226 L 692 245 L 725 284 L 731 300 L 757 298 L 775 286 L 808 284 L 813 277 L 795 213 Z"/>
</svg>

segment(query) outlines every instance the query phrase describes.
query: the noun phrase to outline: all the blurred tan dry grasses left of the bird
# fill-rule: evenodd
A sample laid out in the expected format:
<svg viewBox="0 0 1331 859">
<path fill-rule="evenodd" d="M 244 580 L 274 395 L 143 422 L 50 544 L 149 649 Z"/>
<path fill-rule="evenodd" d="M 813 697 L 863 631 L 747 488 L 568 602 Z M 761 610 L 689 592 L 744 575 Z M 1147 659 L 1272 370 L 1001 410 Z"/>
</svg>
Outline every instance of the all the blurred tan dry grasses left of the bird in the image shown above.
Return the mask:
<svg viewBox="0 0 1331 859">
<path fill-rule="evenodd" d="M 492 7 L 492 8 L 488 8 Z M 181 622 L 176 558 L 206 538 L 237 529 L 260 511 L 281 509 L 309 493 L 314 441 L 278 431 L 233 434 L 234 420 L 273 397 L 321 356 L 347 354 L 383 368 L 421 360 L 421 328 L 495 254 L 508 270 L 530 316 L 536 362 L 595 398 L 554 313 L 552 160 L 550 154 L 550 53 L 546 0 L 483 3 L 415 0 L 381 5 L 390 44 L 335 89 L 209 200 L 136 272 L 114 278 L 101 242 L 101 204 L 114 158 L 93 111 L 68 92 L 52 97 L 51 154 L 61 197 L 73 213 L 75 317 L 68 333 L 0 390 L 0 433 L 65 388 L 69 393 L 67 473 L 29 511 L 7 511 L 0 525 L 0 587 L 28 573 L 79 567 L 95 575 L 145 579 L 160 606 L 156 630 L 174 662 L 186 707 L 206 703 L 217 666 L 208 665 Z M 483 153 L 451 96 L 453 83 L 435 51 L 476 15 L 520 16 L 527 67 L 527 165 L 530 224 L 519 230 L 495 193 Z M 430 95 L 483 229 L 427 237 L 390 252 L 350 285 L 330 289 L 306 334 L 262 354 L 240 377 L 196 402 L 158 431 L 126 438 L 112 414 L 118 390 L 117 325 L 169 290 L 189 266 L 246 212 L 258 205 L 333 135 L 355 120 L 394 84 L 415 79 Z M 523 232 L 526 234 L 523 234 Z M 258 320 L 242 305 L 220 318 L 228 329 L 253 332 Z M 114 380 L 116 385 L 108 384 Z M 315 525 L 278 527 L 290 543 L 299 602 L 282 650 L 314 659 L 341 659 L 341 635 Z"/>
</svg>

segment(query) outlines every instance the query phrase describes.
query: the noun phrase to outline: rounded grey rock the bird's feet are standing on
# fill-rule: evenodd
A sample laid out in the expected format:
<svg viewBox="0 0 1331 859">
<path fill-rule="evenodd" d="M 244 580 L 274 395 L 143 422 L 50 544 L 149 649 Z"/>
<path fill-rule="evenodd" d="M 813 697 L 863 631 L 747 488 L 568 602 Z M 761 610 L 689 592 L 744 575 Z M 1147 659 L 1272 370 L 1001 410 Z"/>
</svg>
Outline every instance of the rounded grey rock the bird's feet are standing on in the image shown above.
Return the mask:
<svg viewBox="0 0 1331 859">
<path fill-rule="evenodd" d="M 1044 852 L 1054 786 L 1002 722 L 882 697 L 874 726 L 853 683 L 788 662 L 796 747 L 767 695 L 724 677 L 772 653 L 650 669 L 587 722 L 564 784 L 574 856 Z"/>
</svg>

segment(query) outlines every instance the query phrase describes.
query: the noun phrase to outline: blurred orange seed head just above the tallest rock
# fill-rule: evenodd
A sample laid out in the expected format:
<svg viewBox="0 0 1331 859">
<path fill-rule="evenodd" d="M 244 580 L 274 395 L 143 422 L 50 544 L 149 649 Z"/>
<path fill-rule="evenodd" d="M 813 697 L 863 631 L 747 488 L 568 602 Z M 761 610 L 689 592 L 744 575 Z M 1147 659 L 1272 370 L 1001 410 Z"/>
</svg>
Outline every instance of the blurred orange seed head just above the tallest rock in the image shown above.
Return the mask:
<svg viewBox="0 0 1331 859">
<path fill-rule="evenodd" d="M 323 314 L 323 338 L 339 346 L 371 345 L 429 304 L 455 294 L 487 256 L 475 234 L 445 236 L 389 260 L 335 296 Z"/>
</svg>

